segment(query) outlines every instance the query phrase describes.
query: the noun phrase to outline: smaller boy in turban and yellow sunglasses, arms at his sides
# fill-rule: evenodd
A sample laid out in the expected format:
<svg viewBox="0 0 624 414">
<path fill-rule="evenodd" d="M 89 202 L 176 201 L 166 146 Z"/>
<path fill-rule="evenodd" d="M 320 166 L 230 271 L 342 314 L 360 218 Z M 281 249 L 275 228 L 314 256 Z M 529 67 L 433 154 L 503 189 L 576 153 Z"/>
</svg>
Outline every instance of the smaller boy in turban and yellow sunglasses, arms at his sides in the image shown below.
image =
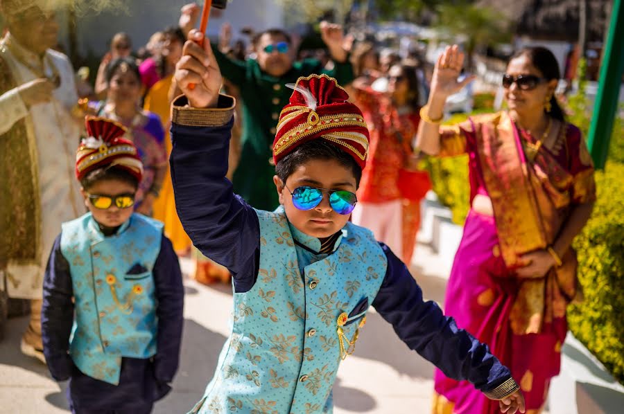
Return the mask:
<svg viewBox="0 0 624 414">
<path fill-rule="evenodd" d="M 143 165 L 125 129 L 87 118 L 76 178 L 90 213 L 62 225 L 44 277 L 44 354 L 72 413 L 150 413 L 171 389 L 184 289 L 162 224 L 133 213 Z"/>
</svg>

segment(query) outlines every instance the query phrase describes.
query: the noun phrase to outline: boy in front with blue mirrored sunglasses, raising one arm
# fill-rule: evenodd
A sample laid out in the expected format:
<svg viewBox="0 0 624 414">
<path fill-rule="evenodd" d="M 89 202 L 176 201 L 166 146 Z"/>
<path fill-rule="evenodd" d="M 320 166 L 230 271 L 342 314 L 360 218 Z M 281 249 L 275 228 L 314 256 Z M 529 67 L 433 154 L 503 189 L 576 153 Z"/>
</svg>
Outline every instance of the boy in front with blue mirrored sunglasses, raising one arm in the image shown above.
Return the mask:
<svg viewBox="0 0 624 414">
<path fill-rule="evenodd" d="M 193 413 L 331 413 L 338 365 L 370 305 L 449 377 L 471 381 L 504 411 L 524 412 L 519 387 L 487 345 L 424 302 L 395 254 L 349 223 L 368 130 L 336 80 L 311 75 L 291 85 L 273 145 L 281 206 L 268 212 L 234 195 L 225 179 L 234 102 L 218 93 L 210 48 L 187 42 L 175 77 L 185 95 L 173 107 L 177 210 L 194 244 L 234 284 L 232 334 Z"/>
</svg>

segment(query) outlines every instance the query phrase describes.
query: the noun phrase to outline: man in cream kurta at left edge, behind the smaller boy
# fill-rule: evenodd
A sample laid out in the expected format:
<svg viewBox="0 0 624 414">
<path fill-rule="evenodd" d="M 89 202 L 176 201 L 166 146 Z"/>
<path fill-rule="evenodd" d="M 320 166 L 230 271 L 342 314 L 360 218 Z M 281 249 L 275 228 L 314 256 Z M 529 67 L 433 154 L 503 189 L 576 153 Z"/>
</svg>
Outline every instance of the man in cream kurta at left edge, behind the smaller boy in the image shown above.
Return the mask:
<svg viewBox="0 0 624 414">
<path fill-rule="evenodd" d="M 31 238 L 35 246 L 26 258 L 15 254 L 16 249 L 3 250 L 0 289 L 6 285 L 10 298 L 31 300 L 31 323 L 21 348 L 35 357 L 42 355 L 38 352 L 42 350 L 42 281 L 49 252 L 62 222 L 85 212 L 78 183 L 73 180 L 73 149 L 80 139 L 79 124 L 71 115 L 71 108 L 78 102 L 73 69 L 67 56 L 49 48 L 56 42 L 58 24 L 53 10 L 46 9 L 43 3 L 0 0 L 9 28 L 0 42 L 0 140 L 15 140 L 15 135 L 20 134 L 27 141 L 24 152 L 28 152 L 22 158 L 25 165 L 15 165 L 15 157 L 8 154 L 10 147 L 3 147 L 5 154 L 0 157 L 5 158 L 0 161 L 4 169 L 21 169 L 24 175 L 30 175 L 28 183 L 33 184 L 35 192 L 31 203 L 23 203 L 31 206 L 23 209 L 14 199 L 3 200 L 14 203 L 8 213 L 16 222 L 32 223 L 26 227 L 18 225 L 19 231 L 9 235 L 6 242 L 15 246 L 23 243 L 24 238 Z M 8 189 L 15 186 L 5 183 Z M 11 197 L 12 190 L 9 193 Z M 24 228 L 28 230 L 23 231 Z"/>
</svg>

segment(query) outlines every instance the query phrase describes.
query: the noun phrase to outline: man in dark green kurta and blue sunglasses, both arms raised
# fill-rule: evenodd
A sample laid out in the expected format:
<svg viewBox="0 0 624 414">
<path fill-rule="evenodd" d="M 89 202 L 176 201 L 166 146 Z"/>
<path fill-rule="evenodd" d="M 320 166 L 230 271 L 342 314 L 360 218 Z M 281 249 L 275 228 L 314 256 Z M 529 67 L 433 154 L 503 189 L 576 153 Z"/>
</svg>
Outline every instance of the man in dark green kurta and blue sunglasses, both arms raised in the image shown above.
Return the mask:
<svg viewBox="0 0 624 414">
<path fill-rule="evenodd" d="M 331 55 L 328 66 L 315 59 L 295 62 L 291 37 L 283 30 L 266 30 L 254 37 L 257 57 L 246 62 L 230 59 L 213 45 L 223 77 L 239 88 L 243 100 L 242 150 L 232 180 L 234 191 L 255 208 L 273 210 L 279 204 L 272 184 L 272 143 L 279 112 L 293 92 L 284 84 L 312 73 L 327 73 L 340 84 L 354 78 L 343 48 L 342 27 L 323 22 L 320 29 Z"/>
</svg>

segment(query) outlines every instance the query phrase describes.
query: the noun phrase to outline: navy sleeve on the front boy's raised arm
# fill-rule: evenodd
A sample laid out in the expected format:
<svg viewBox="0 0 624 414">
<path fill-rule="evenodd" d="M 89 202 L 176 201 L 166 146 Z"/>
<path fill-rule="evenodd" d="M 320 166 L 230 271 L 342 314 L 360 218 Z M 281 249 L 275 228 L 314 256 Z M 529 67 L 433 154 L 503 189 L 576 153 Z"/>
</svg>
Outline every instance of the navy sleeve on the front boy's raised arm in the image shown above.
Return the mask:
<svg viewBox="0 0 624 414">
<path fill-rule="evenodd" d="M 184 98 L 173 105 L 184 106 Z M 174 119 L 169 162 L 184 230 L 205 256 L 232 273 L 236 291 L 247 291 L 259 261 L 260 225 L 253 208 L 234 195 L 225 178 L 232 123 L 230 118 L 222 125 L 189 126 Z"/>
</svg>

